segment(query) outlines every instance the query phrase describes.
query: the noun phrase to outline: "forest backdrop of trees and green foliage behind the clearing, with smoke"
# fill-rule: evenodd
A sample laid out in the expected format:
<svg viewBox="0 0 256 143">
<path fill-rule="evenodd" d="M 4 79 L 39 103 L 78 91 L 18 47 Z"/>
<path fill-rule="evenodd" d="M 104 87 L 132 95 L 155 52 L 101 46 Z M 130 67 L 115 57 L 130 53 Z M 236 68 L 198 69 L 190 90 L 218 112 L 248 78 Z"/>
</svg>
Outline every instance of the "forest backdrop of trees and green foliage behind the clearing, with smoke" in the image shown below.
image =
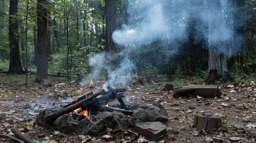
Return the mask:
<svg viewBox="0 0 256 143">
<path fill-rule="evenodd" d="M 0 69 L 90 76 L 254 75 L 254 0 L 2 0 Z M 31 73 L 31 72 L 30 72 Z M 242 78 L 242 77 L 241 77 Z M 123 82 L 118 84 L 123 85 Z"/>
</svg>

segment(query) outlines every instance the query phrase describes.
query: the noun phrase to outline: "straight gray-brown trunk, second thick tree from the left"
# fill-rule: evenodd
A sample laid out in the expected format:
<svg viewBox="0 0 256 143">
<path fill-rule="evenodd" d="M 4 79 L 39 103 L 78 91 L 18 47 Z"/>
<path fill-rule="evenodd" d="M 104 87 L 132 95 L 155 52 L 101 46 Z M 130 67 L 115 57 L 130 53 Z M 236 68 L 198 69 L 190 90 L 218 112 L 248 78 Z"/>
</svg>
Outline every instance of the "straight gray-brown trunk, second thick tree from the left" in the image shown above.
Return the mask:
<svg viewBox="0 0 256 143">
<path fill-rule="evenodd" d="M 48 79 L 48 63 L 47 63 L 47 10 L 43 6 L 47 0 L 38 0 L 38 46 L 37 46 L 37 73 L 36 82 L 42 79 Z"/>
</svg>

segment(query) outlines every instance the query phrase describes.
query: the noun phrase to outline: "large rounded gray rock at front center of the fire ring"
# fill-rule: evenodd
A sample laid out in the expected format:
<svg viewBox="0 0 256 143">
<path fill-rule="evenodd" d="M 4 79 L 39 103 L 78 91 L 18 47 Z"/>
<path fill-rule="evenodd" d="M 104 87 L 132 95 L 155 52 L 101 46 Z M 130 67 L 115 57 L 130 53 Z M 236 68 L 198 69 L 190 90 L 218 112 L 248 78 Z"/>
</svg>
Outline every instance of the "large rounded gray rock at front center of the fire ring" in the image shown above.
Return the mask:
<svg viewBox="0 0 256 143">
<path fill-rule="evenodd" d="M 111 133 L 125 132 L 128 128 L 128 122 L 125 114 L 114 111 L 101 112 L 95 116 L 94 119 L 89 123 L 88 127 L 85 128 L 85 134 L 87 135 L 103 135 L 109 128 Z"/>
</svg>

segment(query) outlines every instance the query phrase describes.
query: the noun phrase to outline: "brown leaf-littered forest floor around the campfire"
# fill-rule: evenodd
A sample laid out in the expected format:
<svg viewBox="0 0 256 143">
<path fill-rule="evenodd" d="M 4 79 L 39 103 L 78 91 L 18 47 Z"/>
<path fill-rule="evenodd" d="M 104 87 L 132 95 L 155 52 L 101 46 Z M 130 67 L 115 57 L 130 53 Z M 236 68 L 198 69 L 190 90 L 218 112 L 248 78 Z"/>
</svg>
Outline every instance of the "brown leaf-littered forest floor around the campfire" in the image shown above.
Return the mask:
<svg viewBox="0 0 256 143">
<path fill-rule="evenodd" d="M 63 77 L 49 77 L 50 87 L 35 82 L 35 76 L 29 77 L 29 86 L 24 85 L 24 75 L 0 73 L 0 132 L 10 133 L 14 127 L 38 142 L 83 142 L 81 136 L 54 132 L 36 125 L 36 114 L 44 108 L 60 106 L 70 99 L 78 97 L 78 80 Z M 177 80 L 177 79 L 176 79 Z M 181 80 L 183 81 L 181 83 Z M 231 83 L 220 84 L 221 98 L 180 97 L 173 98 L 174 91 L 164 91 L 165 80 L 155 79 L 151 85 L 127 87 L 126 98 L 131 104 L 152 104 L 160 102 L 168 111 L 170 129 L 167 135 L 156 142 L 205 142 L 205 138 L 218 137 L 223 142 L 230 142 L 232 136 L 240 142 L 256 142 L 256 86 L 255 79 L 245 78 Z M 180 78 L 180 85 L 195 84 L 190 77 Z M 256 81 L 255 81 L 256 82 Z M 172 82 L 169 82 L 172 83 Z M 174 83 L 174 82 L 173 82 Z M 99 83 L 100 85 L 100 83 Z M 175 85 L 174 86 L 180 86 Z M 92 90 L 100 89 L 95 86 Z M 85 93 L 84 93 L 85 94 Z M 73 98 L 72 98 L 73 97 Z M 227 104 L 224 107 L 221 104 Z M 189 106 L 195 107 L 194 109 Z M 195 113 L 214 114 L 221 117 L 222 126 L 218 130 L 196 130 L 193 127 Z M 240 129 L 234 127 L 239 125 Z M 106 140 L 101 136 L 91 136 L 88 142 L 121 142 L 120 136 L 111 135 Z M 10 142 L 0 137 L 0 142 Z M 125 142 L 125 141 L 123 141 Z M 126 142 L 129 142 L 128 140 Z M 131 142 L 138 142 L 137 138 Z"/>
</svg>

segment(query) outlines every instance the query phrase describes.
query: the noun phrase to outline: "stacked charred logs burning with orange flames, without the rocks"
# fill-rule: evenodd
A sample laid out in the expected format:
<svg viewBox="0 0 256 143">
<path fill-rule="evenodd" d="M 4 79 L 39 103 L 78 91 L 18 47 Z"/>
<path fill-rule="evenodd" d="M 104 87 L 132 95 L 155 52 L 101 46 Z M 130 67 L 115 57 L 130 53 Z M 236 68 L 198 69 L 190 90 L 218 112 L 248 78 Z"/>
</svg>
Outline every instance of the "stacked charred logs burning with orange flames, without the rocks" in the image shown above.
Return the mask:
<svg viewBox="0 0 256 143">
<path fill-rule="evenodd" d="M 85 86 L 85 89 L 90 88 L 89 86 L 92 84 L 93 82 L 91 80 L 90 85 Z M 43 126 L 52 126 L 55 120 L 63 114 L 67 114 L 77 121 L 90 118 L 91 115 L 95 116 L 102 111 L 121 111 L 124 114 L 131 115 L 133 112 L 128 110 L 127 105 L 122 100 L 125 97 L 125 92 L 125 88 L 113 89 L 111 86 L 107 87 L 107 91 L 101 89 L 101 91 L 95 94 L 90 92 L 70 102 L 60 110 L 42 111 L 39 114 L 38 123 Z M 107 106 L 113 100 L 118 100 L 120 105 L 116 107 Z"/>
</svg>

